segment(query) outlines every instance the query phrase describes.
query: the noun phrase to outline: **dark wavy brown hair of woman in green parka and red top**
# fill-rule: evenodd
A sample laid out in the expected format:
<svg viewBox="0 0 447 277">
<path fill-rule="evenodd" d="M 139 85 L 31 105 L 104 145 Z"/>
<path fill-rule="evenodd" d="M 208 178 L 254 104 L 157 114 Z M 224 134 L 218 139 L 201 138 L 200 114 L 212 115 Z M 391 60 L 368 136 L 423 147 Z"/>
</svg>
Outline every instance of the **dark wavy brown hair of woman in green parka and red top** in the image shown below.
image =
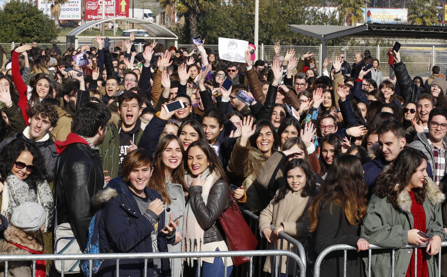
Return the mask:
<svg viewBox="0 0 447 277">
<path fill-rule="evenodd" d="M 384 170 L 377 178 L 375 191 L 380 198 L 387 198 L 387 201 L 397 209 L 397 198 L 403 190 L 408 186 L 411 177 L 421 166 L 422 161 L 427 160 L 427 157 L 420 150 L 406 147 L 397 155 L 393 162 L 392 168 Z M 424 203 L 427 180 L 421 188 L 414 189 L 414 198 L 419 204 Z M 397 186 L 397 188 L 396 188 Z"/>
</svg>

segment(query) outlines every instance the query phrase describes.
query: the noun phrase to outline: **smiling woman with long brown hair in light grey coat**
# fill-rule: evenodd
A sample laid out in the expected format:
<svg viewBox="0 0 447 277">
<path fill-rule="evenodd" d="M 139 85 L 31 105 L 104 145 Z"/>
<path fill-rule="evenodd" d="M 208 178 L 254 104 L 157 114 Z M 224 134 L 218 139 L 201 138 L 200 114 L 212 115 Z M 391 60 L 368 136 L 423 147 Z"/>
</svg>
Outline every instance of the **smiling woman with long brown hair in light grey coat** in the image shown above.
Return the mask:
<svg viewBox="0 0 447 277">
<path fill-rule="evenodd" d="M 154 152 L 154 172 L 149 188 L 156 190 L 163 198 L 165 212 L 174 214 L 173 219 L 183 216 L 185 210 L 185 170 L 183 167 L 184 150 L 177 136 L 166 135 L 160 139 Z M 169 220 L 169 215 L 165 215 Z M 175 220 L 174 220 L 175 221 Z M 182 252 L 182 236 L 184 219 L 179 219 L 175 235 L 175 243 L 168 244 L 169 252 Z M 168 222 L 168 221 L 167 221 Z M 171 276 L 182 276 L 183 259 L 171 259 Z"/>
</svg>

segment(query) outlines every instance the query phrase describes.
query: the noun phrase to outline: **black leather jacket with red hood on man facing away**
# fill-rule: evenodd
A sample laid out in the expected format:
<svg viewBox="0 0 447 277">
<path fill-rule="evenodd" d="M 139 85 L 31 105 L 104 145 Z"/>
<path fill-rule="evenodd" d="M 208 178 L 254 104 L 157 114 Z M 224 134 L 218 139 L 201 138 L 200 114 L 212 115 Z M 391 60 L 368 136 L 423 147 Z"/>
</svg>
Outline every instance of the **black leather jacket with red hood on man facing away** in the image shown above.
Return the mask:
<svg viewBox="0 0 447 277">
<path fill-rule="evenodd" d="M 99 150 L 79 141 L 70 144 L 73 136 L 76 135 L 68 134 L 68 142 L 56 141 L 60 153 L 55 173 L 57 224 L 70 223 L 80 248 L 84 249 L 90 220 L 95 214 L 90 200 L 104 187 L 104 173 Z"/>
</svg>

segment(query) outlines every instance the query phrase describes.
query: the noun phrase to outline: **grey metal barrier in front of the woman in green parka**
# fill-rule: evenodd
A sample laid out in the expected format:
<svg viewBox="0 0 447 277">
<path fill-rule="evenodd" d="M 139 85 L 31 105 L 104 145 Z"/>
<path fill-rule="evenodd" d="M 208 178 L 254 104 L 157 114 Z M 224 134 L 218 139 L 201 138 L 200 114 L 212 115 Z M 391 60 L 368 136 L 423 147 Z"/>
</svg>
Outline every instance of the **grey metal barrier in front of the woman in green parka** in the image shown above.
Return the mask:
<svg viewBox="0 0 447 277">
<path fill-rule="evenodd" d="M 390 248 L 381 248 L 375 245 L 370 244 L 368 249 L 368 277 L 371 277 L 371 250 L 374 249 L 390 249 Z M 441 243 L 441 248 L 439 248 L 438 253 L 438 276 L 441 276 L 441 250 L 443 247 L 447 246 L 447 241 L 444 241 Z M 406 248 L 413 248 L 413 251 L 416 251 L 417 248 L 425 248 L 426 245 L 412 245 L 412 244 L 404 244 L 401 248 L 393 248 L 391 249 L 391 276 L 394 276 L 394 256 L 395 256 L 395 249 L 406 249 Z M 320 255 L 316 258 L 315 261 L 315 267 L 314 267 L 314 277 L 320 277 L 320 266 L 322 261 L 324 260 L 325 256 L 328 255 L 330 252 L 337 251 L 337 250 L 343 250 L 343 277 L 346 277 L 346 261 L 347 261 L 347 251 L 348 250 L 355 250 L 355 247 L 346 245 L 346 244 L 336 244 L 329 246 L 325 250 L 323 250 Z M 417 276 L 417 255 L 414 255 L 414 276 Z"/>
</svg>

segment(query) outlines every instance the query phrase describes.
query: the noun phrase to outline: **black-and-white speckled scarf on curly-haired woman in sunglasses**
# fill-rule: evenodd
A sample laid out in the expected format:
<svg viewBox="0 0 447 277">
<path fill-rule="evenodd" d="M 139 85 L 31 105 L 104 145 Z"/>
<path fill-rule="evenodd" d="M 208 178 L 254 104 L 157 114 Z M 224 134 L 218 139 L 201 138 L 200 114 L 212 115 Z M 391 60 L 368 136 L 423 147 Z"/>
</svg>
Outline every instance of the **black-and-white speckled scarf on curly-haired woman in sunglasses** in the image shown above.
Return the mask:
<svg viewBox="0 0 447 277">
<path fill-rule="evenodd" d="M 54 217 L 53 193 L 46 181 L 36 184 L 28 184 L 25 180 L 20 180 L 14 174 L 9 174 L 4 182 L 1 214 L 8 220 L 15 208 L 24 202 L 37 202 L 42 205 L 46 212 L 46 222 L 44 232 L 51 231 L 51 223 Z"/>
</svg>

